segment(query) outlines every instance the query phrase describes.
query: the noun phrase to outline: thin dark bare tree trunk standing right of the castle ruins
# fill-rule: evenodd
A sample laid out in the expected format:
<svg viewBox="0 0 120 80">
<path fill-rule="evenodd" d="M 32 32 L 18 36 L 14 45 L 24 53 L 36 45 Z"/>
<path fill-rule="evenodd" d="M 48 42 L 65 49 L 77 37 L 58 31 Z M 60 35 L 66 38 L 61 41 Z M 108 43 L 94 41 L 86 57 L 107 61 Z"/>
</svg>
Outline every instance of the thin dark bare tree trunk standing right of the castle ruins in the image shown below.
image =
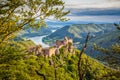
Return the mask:
<svg viewBox="0 0 120 80">
<path fill-rule="evenodd" d="M 78 60 L 78 73 L 79 73 L 79 80 L 84 80 L 84 72 L 82 71 L 81 69 L 81 60 L 82 60 L 82 54 L 83 52 L 85 51 L 86 47 L 87 47 L 87 43 L 88 43 L 88 39 L 89 39 L 89 36 L 90 36 L 90 33 L 88 33 L 87 37 L 86 37 L 86 40 L 85 40 L 85 43 L 83 45 L 83 48 L 80 52 L 80 55 L 79 55 L 79 60 Z M 87 64 L 86 64 L 87 65 Z M 86 70 L 85 70 L 86 71 Z"/>
</svg>

